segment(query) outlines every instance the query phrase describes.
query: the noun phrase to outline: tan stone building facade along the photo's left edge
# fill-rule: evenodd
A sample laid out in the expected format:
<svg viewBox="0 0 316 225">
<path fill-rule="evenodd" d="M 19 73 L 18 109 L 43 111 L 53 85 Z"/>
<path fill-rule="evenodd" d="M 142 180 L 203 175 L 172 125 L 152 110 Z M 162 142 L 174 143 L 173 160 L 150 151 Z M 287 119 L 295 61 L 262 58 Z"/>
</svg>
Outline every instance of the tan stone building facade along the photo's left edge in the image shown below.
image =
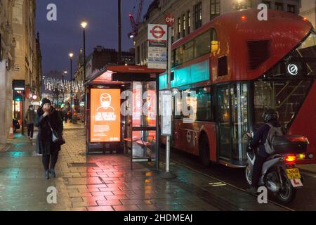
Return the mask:
<svg viewBox="0 0 316 225">
<path fill-rule="evenodd" d="M 13 117 L 22 124 L 33 96 L 40 95 L 41 53 L 35 33 L 35 0 L 0 0 L 0 143 L 12 126 Z M 25 80 L 25 102 L 13 101 L 13 80 Z"/>
</svg>

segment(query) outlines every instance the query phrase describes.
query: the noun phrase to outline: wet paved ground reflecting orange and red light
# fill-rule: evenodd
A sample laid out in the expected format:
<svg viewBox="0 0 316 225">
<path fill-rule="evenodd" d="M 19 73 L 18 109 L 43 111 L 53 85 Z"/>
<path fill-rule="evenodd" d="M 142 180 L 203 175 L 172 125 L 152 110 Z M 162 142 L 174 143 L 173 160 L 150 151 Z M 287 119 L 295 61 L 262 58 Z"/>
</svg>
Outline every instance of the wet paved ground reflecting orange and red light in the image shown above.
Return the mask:
<svg viewBox="0 0 316 225">
<path fill-rule="evenodd" d="M 55 179 L 44 179 L 35 141 L 16 135 L 0 152 L 0 210 L 286 210 L 176 163 L 168 180 L 154 162 L 131 170 L 125 155 L 86 155 L 84 129 L 74 127 L 65 126 Z M 47 202 L 49 187 L 57 188 L 56 204 Z"/>
</svg>

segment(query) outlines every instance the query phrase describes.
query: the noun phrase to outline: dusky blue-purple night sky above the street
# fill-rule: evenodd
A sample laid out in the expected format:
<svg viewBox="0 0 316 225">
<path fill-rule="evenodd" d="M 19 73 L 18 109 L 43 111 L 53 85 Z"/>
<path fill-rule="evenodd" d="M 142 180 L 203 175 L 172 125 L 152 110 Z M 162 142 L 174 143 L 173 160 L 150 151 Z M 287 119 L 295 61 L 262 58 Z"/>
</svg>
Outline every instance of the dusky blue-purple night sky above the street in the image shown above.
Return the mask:
<svg viewBox="0 0 316 225">
<path fill-rule="evenodd" d="M 128 39 L 131 32 L 129 13 L 136 17 L 139 0 L 122 1 L 122 50 L 129 51 L 133 41 Z M 145 0 L 143 15 L 152 0 Z M 48 4 L 57 6 L 57 21 L 48 21 Z M 83 46 L 81 20 L 88 21 L 86 28 L 86 56 L 97 45 L 118 49 L 117 0 L 38 0 L 37 31 L 40 35 L 43 73 L 50 70 L 70 70 L 68 53 L 74 52 L 73 70 L 77 68 L 77 56 Z M 140 18 L 143 21 L 143 17 Z"/>
</svg>

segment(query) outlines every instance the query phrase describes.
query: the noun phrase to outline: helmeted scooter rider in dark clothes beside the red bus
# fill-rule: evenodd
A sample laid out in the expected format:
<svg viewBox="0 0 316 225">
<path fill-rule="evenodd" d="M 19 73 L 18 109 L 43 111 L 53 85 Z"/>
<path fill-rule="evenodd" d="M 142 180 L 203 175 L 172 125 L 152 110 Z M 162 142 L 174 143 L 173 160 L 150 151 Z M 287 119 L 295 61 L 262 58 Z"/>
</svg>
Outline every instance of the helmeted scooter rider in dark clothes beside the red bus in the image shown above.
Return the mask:
<svg viewBox="0 0 316 225">
<path fill-rule="evenodd" d="M 252 180 L 251 180 L 251 187 L 247 189 L 250 193 L 257 193 L 258 190 L 258 183 L 261 176 L 261 170 L 265 161 L 269 158 L 269 154 L 265 150 L 265 141 L 268 137 L 268 133 L 270 131 L 270 126 L 267 124 L 271 124 L 273 127 L 281 127 L 279 124 L 279 113 L 276 110 L 269 109 L 267 110 L 264 115 L 264 122 L 265 124 L 259 127 L 258 131 L 254 135 L 254 139 L 252 139 L 249 147 L 259 148 L 258 155 L 256 156 L 256 161 L 254 162 L 254 169 L 252 172 Z"/>
</svg>

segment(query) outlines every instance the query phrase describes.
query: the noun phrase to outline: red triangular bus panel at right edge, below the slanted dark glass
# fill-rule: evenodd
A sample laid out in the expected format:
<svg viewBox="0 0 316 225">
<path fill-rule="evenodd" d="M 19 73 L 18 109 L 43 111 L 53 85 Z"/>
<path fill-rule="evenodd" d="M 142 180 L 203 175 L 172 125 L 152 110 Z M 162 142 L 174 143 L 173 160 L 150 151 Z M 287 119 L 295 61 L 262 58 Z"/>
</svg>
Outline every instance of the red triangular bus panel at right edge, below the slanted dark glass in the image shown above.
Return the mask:
<svg viewBox="0 0 316 225">
<path fill-rule="evenodd" d="M 299 161 L 300 164 L 316 163 L 316 82 L 312 85 L 308 96 L 294 119 L 289 134 L 301 134 L 308 138 L 310 145 L 308 153 L 312 153 L 312 160 Z"/>
</svg>

